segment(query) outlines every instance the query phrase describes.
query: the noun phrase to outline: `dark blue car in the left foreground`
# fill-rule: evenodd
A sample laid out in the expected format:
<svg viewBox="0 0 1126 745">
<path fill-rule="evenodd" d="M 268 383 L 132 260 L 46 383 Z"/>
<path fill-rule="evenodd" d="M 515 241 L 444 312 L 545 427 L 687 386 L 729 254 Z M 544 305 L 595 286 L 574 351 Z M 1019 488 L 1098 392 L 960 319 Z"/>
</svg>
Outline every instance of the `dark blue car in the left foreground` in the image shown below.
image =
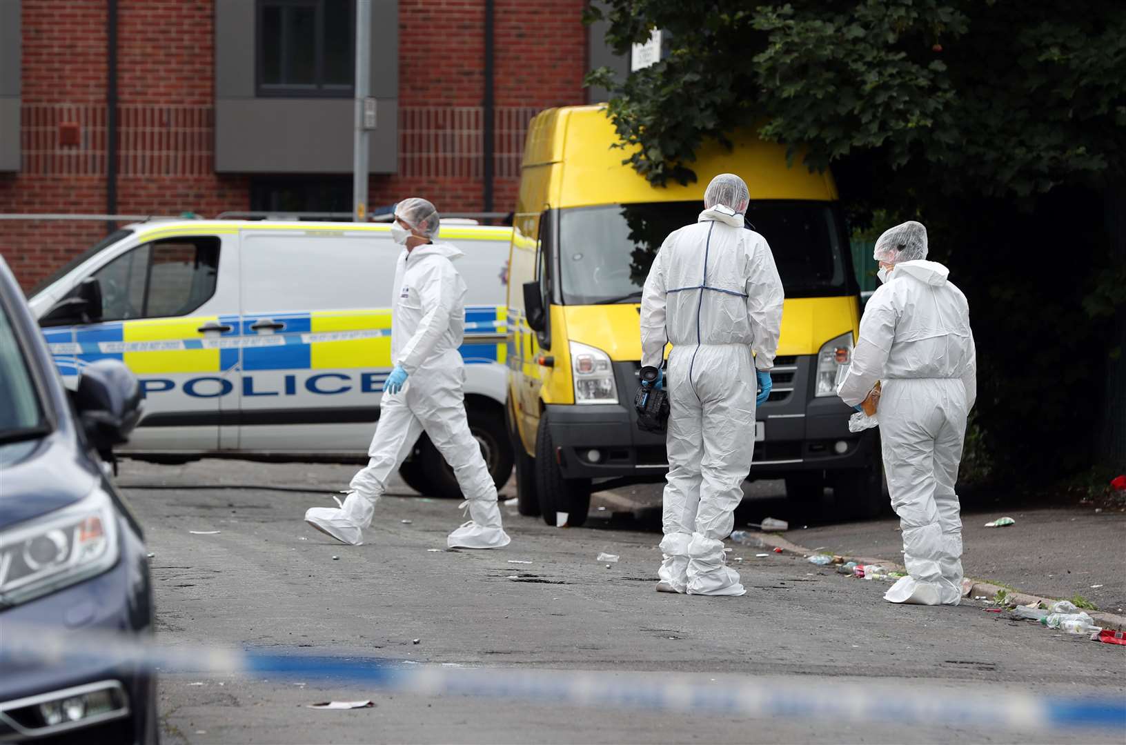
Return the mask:
<svg viewBox="0 0 1126 745">
<path fill-rule="evenodd" d="M 68 302 L 61 312 L 83 312 L 81 296 Z M 159 738 L 148 670 L 97 649 L 27 654 L 87 631 L 152 634 L 143 535 L 106 465 L 141 404 L 116 360 L 68 393 L 0 258 L 0 742 Z"/>
</svg>

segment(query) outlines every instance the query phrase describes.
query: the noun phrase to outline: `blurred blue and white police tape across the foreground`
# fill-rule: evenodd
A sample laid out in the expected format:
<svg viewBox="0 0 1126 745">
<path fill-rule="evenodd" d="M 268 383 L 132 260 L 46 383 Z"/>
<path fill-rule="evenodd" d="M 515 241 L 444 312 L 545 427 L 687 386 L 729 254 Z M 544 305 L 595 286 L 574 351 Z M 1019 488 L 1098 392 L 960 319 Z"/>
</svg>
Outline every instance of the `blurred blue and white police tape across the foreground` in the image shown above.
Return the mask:
<svg viewBox="0 0 1126 745">
<path fill-rule="evenodd" d="M 769 719 L 974 726 L 1008 730 L 1115 729 L 1126 735 L 1126 700 L 745 675 L 450 667 L 364 656 L 158 645 L 102 634 L 5 628 L 3 676 L 39 666 L 100 663 L 167 673 L 269 675 L 360 683 L 397 693 L 475 695 L 554 706 L 642 709 Z"/>
</svg>

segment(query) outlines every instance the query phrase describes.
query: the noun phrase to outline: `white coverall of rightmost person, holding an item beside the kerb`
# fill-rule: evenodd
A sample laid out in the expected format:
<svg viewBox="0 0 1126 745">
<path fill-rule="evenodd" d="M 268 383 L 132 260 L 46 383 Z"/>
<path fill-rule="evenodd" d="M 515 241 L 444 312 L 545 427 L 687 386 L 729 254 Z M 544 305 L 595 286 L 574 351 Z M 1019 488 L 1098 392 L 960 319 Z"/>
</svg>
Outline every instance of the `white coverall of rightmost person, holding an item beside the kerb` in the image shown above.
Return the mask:
<svg viewBox="0 0 1126 745">
<path fill-rule="evenodd" d="M 956 605 L 962 599 L 954 485 L 977 382 L 969 305 L 948 275 L 933 261 L 895 263 L 864 309 L 852 363 L 838 387 L 855 406 L 883 382 L 884 470 L 909 573 L 884 595 L 893 603 Z"/>
</svg>

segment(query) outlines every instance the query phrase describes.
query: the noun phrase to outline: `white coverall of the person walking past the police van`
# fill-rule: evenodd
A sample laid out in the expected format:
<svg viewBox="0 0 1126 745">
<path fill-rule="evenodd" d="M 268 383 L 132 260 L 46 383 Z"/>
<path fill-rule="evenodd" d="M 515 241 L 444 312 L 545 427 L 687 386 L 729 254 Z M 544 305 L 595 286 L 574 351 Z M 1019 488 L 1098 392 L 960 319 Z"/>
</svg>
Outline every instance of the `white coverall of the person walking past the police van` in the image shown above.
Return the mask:
<svg viewBox="0 0 1126 745">
<path fill-rule="evenodd" d="M 462 255 L 448 243 L 431 243 L 399 258 L 391 359 L 410 377 L 402 392 L 383 395 L 370 460 L 352 478 L 341 508 L 313 508 L 305 518 L 331 521 L 331 529 L 355 536 L 346 542 L 359 545 L 387 478 L 423 431 L 454 469 L 472 518 L 449 535 L 448 545 L 500 548 L 511 540 L 501 526 L 497 486 L 465 416 L 465 371 L 458 352 L 465 331 L 465 280 L 453 264 Z"/>
</svg>

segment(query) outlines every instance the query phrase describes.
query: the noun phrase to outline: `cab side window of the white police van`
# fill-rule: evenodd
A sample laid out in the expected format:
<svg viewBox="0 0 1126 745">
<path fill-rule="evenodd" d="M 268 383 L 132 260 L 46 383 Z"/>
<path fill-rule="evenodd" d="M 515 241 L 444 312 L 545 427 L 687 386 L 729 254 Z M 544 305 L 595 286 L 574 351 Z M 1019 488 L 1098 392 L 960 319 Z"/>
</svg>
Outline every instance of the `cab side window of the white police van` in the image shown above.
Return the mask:
<svg viewBox="0 0 1126 745">
<path fill-rule="evenodd" d="M 220 240 L 176 237 L 145 243 L 95 272 L 101 320 L 187 315 L 215 294 Z"/>
</svg>

